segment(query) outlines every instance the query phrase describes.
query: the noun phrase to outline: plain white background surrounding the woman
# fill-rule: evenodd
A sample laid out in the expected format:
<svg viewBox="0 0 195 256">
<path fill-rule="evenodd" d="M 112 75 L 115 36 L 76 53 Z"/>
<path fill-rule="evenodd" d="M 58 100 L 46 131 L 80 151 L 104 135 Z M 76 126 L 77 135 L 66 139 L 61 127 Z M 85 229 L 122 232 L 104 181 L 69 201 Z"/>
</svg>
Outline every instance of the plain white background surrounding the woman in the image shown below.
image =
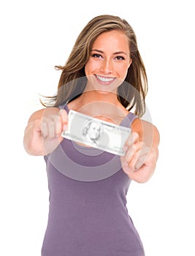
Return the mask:
<svg viewBox="0 0 195 256">
<path fill-rule="evenodd" d="M 146 256 L 195 255 L 194 7 L 192 1 L 1 1 L 0 255 L 40 255 L 47 225 L 45 162 L 23 149 L 39 94 L 56 93 L 74 40 L 96 15 L 119 15 L 137 34 L 147 105 L 161 133 L 156 173 L 132 182 L 129 214 Z M 79 214 L 79 213 L 78 213 Z M 55 256 L 55 255 L 54 255 Z"/>
</svg>

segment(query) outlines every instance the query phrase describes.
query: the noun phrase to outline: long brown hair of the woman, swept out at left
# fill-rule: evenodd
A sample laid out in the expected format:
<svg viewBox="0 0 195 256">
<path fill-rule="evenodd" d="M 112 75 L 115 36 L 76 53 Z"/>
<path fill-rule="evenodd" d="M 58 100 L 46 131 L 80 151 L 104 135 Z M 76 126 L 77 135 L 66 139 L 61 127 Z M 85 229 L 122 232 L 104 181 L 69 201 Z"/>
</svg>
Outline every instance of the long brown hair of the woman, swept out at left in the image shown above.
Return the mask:
<svg viewBox="0 0 195 256">
<path fill-rule="evenodd" d="M 46 97 L 53 106 L 57 107 L 71 102 L 83 93 L 87 82 L 85 64 L 90 56 L 93 42 L 99 34 L 111 30 L 123 31 L 129 38 L 130 58 L 132 60 L 124 82 L 118 87 L 118 100 L 126 109 L 134 108 L 134 113 L 139 117 L 145 113 L 148 79 L 137 48 L 137 38 L 126 20 L 113 15 L 99 15 L 89 21 L 77 37 L 66 64 L 56 66 L 56 69 L 62 71 L 58 82 L 58 92 L 54 97 Z M 42 104 L 51 105 L 43 102 Z"/>
</svg>

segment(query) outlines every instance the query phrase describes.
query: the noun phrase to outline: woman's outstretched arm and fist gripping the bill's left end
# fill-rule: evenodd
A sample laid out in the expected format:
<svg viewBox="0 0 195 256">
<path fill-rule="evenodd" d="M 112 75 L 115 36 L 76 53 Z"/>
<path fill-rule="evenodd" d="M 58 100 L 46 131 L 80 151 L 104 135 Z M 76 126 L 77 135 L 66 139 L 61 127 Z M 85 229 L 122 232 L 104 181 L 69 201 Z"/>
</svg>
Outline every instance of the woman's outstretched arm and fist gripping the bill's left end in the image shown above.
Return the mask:
<svg viewBox="0 0 195 256">
<path fill-rule="evenodd" d="M 66 110 L 44 108 L 34 112 L 24 132 L 23 145 L 28 154 L 50 154 L 63 140 L 61 132 L 67 129 Z"/>
</svg>

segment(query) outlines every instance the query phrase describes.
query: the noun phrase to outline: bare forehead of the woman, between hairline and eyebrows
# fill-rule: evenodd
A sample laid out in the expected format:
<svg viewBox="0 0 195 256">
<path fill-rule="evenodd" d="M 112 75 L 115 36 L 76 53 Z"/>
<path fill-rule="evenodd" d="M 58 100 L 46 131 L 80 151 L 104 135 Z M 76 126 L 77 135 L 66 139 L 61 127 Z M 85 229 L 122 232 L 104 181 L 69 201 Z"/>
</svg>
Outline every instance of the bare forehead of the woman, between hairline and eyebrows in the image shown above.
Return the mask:
<svg viewBox="0 0 195 256">
<path fill-rule="evenodd" d="M 99 34 L 99 36 L 93 42 L 92 48 L 115 48 L 117 50 L 129 50 L 129 38 L 121 30 L 103 32 L 102 34 Z"/>
</svg>

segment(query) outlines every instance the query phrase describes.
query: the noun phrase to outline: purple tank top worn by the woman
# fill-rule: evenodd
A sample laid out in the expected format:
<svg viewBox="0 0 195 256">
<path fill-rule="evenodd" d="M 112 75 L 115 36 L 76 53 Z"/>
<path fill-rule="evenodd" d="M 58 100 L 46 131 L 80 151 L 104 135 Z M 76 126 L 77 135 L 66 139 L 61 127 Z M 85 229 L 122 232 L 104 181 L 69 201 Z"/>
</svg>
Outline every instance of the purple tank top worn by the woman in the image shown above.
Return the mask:
<svg viewBox="0 0 195 256">
<path fill-rule="evenodd" d="M 129 113 L 121 125 L 134 118 Z M 42 256 L 145 255 L 126 208 L 131 179 L 119 156 L 64 139 L 45 162 L 50 207 Z"/>
</svg>

